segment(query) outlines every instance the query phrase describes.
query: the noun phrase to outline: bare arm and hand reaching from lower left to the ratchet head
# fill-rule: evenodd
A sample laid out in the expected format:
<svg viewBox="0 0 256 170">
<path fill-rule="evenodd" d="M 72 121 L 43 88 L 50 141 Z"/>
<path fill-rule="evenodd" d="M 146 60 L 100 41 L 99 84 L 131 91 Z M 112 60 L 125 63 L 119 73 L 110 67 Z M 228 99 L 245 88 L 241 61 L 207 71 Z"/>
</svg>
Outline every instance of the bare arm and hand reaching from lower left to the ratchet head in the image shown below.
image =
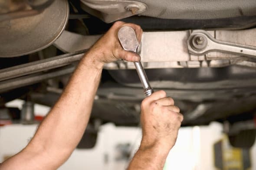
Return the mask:
<svg viewBox="0 0 256 170">
<path fill-rule="evenodd" d="M 89 121 L 104 63 L 119 58 L 138 61 L 139 56 L 121 48 L 116 37 L 121 26 L 142 30 L 134 24 L 116 22 L 79 63 L 59 101 L 20 153 L 0 165 L 0 170 L 55 170 L 70 156 Z"/>
</svg>

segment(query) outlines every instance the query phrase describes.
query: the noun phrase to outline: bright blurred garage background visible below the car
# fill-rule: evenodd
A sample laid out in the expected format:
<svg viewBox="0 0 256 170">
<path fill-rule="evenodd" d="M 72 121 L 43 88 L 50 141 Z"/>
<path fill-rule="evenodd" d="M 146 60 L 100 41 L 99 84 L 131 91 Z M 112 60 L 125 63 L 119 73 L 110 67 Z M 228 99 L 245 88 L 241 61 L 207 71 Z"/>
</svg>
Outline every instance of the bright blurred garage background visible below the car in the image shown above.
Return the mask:
<svg viewBox="0 0 256 170">
<path fill-rule="evenodd" d="M 22 108 L 23 100 L 13 100 L 8 107 Z M 44 116 L 49 107 L 35 105 L 36 116 Z M 0 162 L 19 152 L 35 133 L 34 125 L 4 125 L 0 127 Z M 256 146 L 233 148 L 223 126 L 183 127 L 176 145 L 170 151 L 164 170 L 256 170 Z M 92 149 L 76 149 L 59 170 L 125 170 L 141 140 L 139 127 L 102 125 Z"/>
</svg>

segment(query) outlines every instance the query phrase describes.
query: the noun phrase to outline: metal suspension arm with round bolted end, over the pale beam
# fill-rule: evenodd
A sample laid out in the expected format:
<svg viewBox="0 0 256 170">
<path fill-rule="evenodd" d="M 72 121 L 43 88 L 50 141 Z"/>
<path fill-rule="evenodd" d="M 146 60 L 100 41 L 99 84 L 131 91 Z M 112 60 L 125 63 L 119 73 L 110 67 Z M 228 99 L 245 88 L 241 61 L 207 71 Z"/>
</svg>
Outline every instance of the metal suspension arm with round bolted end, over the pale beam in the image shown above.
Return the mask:
<svg viewBox="0 0 256 170">
<path fill-rule="evenodd" d="M 221 51 L 256 58 L 256 47 L 220 41 L 203 30 L 191 33 L 187 40 L 187 47 L 189 53 L 193 55 L 206 55 L 212 51 Z"/>
</svg>

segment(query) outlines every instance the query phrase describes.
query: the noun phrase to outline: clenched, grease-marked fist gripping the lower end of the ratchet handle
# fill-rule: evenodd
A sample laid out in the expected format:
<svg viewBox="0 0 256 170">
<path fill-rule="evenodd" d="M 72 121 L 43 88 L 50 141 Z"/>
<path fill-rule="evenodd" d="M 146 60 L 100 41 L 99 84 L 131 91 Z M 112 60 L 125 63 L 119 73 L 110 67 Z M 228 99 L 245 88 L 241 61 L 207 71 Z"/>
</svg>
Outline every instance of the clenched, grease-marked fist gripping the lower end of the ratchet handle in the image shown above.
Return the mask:
<svg viewBox="0 0 256 170">
<path fill-rule="evenodd" d="M 141 103 L 141 147 L 162 148 L 169 152 L 174 146 L 183 115 L 174 100 L 163 90 L 152 93 Z"/>
</svg>

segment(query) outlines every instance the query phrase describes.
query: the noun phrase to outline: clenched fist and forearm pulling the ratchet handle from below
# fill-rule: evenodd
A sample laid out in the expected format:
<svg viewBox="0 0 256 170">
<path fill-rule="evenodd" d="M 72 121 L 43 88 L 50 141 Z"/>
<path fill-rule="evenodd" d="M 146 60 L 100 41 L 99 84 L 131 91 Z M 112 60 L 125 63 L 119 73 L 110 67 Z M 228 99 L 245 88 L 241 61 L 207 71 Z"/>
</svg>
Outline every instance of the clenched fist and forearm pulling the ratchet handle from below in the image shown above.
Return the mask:
<svg viewBox="0 0 256 170">
<path fill-rule="evenodd" d="M 141 103 L 141 146 L 128 170 L 163 170 L 182 121 L 180 109 L 164 91 L 144 99 Z"/>
</svg>

